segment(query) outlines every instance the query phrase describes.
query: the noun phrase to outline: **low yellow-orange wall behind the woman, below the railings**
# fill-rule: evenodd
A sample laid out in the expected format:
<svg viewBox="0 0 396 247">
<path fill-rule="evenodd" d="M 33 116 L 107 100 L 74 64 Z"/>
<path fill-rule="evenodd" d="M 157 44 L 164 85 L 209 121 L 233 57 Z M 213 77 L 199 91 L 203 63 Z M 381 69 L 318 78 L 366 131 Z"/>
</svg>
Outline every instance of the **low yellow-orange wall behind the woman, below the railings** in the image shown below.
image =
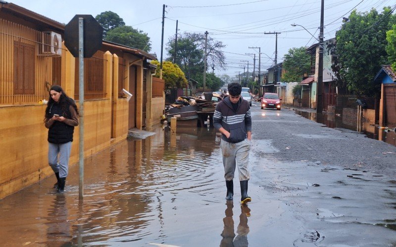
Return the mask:
<svg viewBox="0 0 396 247">
<path fill-rule="evenodd" d="M 53 174 L 47 158 L 45 109 L 46 105 L 0 107 L 0 199 Z M 125 115 L 127 119 L 126 109 L 127 105 L 119 110 L 120 118 Z M 84 112 L 84 156 L 88 157 L 111 145 L 110 100 L 86 101 Z M 119 133 L 116 142 L 126 138 L 127 131 L 122 122 L 127 123 L 121 119 L 120 126 L 116 127 Z M 74 129 L 70 165 L 78 162 L 78 149 L 79 126 Z"/>
</svg>

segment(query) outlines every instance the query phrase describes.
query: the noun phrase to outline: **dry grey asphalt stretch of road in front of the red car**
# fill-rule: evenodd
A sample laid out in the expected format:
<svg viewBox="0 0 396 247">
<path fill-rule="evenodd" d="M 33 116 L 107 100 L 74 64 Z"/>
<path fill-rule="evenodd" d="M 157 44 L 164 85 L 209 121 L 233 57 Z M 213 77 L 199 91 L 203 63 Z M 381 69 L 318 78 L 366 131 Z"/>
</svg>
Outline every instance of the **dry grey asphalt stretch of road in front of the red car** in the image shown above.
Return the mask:
<svg viewBox="0 0 396 247">
<path fill-rule="evenodd" d="M 349 169 L 380 172 L 396 178 L 396 147 L 349 129 L 333 129 L 305 119 L 290 109 L 260 110 L 253 104 L 253 138 L 265 139 L 278 161 L 321 162 Z"/>
</svg>

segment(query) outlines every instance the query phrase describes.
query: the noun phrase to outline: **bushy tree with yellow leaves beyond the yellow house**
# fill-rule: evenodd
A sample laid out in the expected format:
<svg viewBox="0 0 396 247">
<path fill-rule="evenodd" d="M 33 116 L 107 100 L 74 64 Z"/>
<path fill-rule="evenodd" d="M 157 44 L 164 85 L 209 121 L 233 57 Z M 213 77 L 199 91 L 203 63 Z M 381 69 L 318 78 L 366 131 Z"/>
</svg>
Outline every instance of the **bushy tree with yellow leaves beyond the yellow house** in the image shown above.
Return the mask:
<svg viewBox="0 0 396 247">
<path fill-rule="evenodd" d="M 154 60 L 151 63 L 159 68 L 160 63 L 158 61 Z M 154 77 L 159 78 L 159 69 L 157 69 Z M 186 76 L 180 67 L 169 61 L 162 62 L 162 79 L 165 81 L 165 88 L 185 88 L 188 84 Z"/>
</svg>

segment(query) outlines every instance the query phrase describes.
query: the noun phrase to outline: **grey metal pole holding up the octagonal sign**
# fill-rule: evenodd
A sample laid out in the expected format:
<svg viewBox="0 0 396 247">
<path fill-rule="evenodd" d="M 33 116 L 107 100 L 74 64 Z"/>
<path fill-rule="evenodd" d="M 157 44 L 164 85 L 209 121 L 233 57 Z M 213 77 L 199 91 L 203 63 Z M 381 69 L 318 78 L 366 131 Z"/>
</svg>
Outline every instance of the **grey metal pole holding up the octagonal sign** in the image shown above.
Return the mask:
<svg viewBox="0 0 396 247">
<path fill-rule="evenodd" d="M 78 18 L 78 46 L 79 46 L 79 102 L 80 102 L 80 139 L 79 139 L 79 183 L 78 183 L 78 198 L 83 199 L 84 194 L 84 18 Z"/>
</svg>

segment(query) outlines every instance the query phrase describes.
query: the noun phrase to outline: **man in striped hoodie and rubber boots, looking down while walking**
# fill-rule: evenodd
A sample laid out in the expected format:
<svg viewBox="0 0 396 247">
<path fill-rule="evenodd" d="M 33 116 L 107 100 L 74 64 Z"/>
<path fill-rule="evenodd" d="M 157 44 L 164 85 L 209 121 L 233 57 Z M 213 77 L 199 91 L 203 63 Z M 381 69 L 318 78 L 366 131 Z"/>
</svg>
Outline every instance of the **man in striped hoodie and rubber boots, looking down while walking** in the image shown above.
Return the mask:
<svg viewBox="0 0 396 247">
<path fill-rule="evenodd" d="M 248 163 L 251 146 L 251 115 L 247 100 L 241 97 L 242 86 L 237 82 L 228 84 L 229 96 L 220 101 L 213 115 L 213 125 L 221 132 L 224 178 L 227 200 L 233 200 L 234 173 L 238 167 L 241 184 L 241 203 L 251 202 L 247 196 L 247 181 L 250 178 Z"/>
</svg>

